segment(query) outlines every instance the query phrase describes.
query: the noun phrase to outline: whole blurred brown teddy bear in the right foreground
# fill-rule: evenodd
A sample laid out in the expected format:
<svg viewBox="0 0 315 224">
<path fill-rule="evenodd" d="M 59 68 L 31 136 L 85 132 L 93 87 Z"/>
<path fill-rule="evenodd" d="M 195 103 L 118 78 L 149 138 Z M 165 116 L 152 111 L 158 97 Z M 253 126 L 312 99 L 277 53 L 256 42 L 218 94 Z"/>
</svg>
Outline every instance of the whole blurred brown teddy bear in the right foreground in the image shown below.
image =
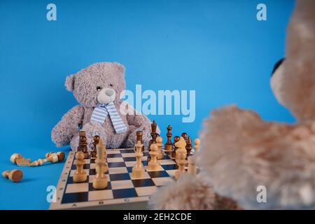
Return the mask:
<svg viewBox="0 0 315 224">
<path fill-rule="evenodd" d="M 271 80 L 297 123 L 265 122 L 237 106 L 213 111 L 197 153 L 202 173 L 158 190 L 151 197 L 155 209 L 315 209 L 314 8 L 314 0 L 296 2 L 286 59 Z"/>
</svg>

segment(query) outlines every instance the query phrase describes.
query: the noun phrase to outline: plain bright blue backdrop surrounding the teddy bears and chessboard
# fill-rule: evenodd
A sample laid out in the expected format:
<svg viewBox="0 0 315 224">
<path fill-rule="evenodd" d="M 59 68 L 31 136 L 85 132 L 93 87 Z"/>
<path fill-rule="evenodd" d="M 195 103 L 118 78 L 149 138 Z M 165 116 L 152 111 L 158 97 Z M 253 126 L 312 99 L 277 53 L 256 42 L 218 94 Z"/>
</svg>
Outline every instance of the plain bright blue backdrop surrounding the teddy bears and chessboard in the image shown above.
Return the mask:
<svg viewBox="0 0 315 224">
<path fill-rule="evenodd" d="M 260 2 L 267 21 L 256 20 Z M 174 134 L 197 137 L 202 120 L 225 104 L 294 121 L 269 87 L 293 1 L 52 1 L 51 22 L 48 3 L 0 1 L 1 171 L 16 168 L 13 153 L 34 160 L 57 150 L 50 131 L 77 104 L 64 80 L 94 62 L 124 64 L 129 90 L 196 90 L 195 123 L 149 116 L 163 136 L 171 124 Z M 0 209 L 48 209 L 45 190 L 62 167 L 21 168 L 20 183 L 0 179 Z"/>
</svg>

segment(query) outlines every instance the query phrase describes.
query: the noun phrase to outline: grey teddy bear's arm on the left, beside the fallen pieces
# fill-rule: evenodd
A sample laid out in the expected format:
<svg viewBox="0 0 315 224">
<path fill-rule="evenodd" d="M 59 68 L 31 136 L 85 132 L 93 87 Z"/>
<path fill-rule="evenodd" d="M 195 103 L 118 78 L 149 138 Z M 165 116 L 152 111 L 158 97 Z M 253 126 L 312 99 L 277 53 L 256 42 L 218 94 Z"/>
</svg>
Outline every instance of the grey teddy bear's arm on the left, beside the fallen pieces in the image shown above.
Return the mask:
<svg viewBox="0 0 315 224">
<path fill-rule="evenodd" d="M 69 145 L 72 137 L 78 132 L 82 125 L 84 116 L 83 106 L 74 106 L 62 119 L 55 125 L 51 132 L 52 141 L 56 146 L 62 147 Z"/>
</svg>

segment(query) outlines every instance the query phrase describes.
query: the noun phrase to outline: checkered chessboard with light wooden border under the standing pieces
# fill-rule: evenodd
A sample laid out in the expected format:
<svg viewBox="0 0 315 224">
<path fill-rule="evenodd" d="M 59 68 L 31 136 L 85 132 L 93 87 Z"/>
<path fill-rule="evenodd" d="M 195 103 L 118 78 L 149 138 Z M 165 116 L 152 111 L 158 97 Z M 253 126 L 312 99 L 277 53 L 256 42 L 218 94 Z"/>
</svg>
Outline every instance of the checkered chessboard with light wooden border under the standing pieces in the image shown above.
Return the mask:
<svg viewBox="0 0 315 224">
<path fill-rule="evenodd" d="M 165 157 L 160 162 L 158 171 L 148 169 L 148 151 L 144 151 L 142 163 L 146 174 L 141 179 L 132 178 L 132 167 L 136 158 L 133 148 L 113 149 L 106 151 L 109 171 L 108 186 L 104 190 L 96 190 L 92 187 L 95 176 L 95 158 L 85 159 L 83 169 L 87 174 L 87 180 L 83 183 L 73 182 L 73 174 L 76 172 L 75 152 L 70 152 L 65 162 L 64 169 L 57 184 L 57 202 L 50 204 L 50 209 L 76 209 L 113 204 L 125 204 L 130 202 L 144 202 L 150 199 L 157 188 L 174 181 L 174 174 L 178 166 L 172 152 L 164 152 Z"/>
</svg>

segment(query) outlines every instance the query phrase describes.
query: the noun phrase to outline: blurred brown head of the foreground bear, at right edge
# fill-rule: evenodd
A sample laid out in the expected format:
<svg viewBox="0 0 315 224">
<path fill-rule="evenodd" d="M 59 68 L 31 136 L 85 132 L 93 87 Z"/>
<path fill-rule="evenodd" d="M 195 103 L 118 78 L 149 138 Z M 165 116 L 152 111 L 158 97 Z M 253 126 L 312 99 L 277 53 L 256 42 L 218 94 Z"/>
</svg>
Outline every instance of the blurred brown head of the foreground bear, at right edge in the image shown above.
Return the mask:
<svg viewBox="0 0 315 224">
<path fill-rule="evenodd" d="M 272 89 L 300 122 L 315 120 L 315 1 L 296 1 L 286 38 L 286 59 Z"/>
</svg>

